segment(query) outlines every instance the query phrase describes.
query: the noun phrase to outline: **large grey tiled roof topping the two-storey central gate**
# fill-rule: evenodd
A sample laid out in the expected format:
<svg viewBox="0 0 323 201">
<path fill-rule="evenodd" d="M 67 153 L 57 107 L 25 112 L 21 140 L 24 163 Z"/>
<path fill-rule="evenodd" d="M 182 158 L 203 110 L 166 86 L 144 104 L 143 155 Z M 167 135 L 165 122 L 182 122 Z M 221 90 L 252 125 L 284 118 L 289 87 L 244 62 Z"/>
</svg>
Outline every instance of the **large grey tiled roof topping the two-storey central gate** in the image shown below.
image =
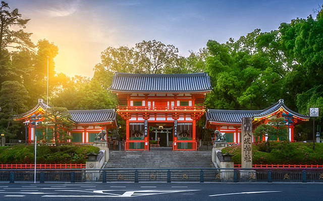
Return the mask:
<svg viewBox="0 0 323 201">
<path fill-rule="evenodd" d="M 110 87 L 110 90 L 117 92 L 202 92 L 211 89 L 207 73 L 117 73 Z"/>
</svg>

